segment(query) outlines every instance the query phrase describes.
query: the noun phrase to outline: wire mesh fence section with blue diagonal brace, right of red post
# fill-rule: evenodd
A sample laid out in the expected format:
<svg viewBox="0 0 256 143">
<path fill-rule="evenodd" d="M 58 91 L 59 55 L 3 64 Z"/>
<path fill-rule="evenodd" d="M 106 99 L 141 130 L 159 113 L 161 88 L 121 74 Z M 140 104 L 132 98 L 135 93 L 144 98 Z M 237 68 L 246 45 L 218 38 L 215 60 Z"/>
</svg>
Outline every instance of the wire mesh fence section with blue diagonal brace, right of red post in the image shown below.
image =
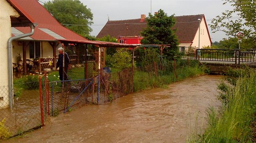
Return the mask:
<svg viewBox="0 0 256 143">
<path fill-rule="evenodd" d="M 46 113 L 57 116 L 60 111 L 67 112 L 82 107 L 88 103 L 96 103 L 93 92 L 93 79 L 66 80 L 49 82 L 45 90 Z"/>
</svg>

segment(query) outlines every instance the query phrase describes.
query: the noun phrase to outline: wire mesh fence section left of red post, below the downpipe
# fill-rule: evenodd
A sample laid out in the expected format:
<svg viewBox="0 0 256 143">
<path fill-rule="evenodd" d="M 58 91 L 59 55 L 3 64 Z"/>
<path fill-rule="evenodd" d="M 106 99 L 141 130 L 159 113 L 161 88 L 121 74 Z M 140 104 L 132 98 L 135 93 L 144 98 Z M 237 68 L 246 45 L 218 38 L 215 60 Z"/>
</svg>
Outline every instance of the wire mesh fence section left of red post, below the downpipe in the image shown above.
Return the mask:
<svg viewBox="0 0 256 143">
<path fill-rule="evenodd" d="M 0 87 L 0 121 L 2 122 L 0 138 L 3 139 L 42 125 L 38 80 L 13 86 L 15 89 L 13 98 L 9 98 L 9 91 L 12 92 L 12 89 L 8 86 Z M 10 104 L 13 104 L 12 108 L 9 107 Z"/>
</svg>

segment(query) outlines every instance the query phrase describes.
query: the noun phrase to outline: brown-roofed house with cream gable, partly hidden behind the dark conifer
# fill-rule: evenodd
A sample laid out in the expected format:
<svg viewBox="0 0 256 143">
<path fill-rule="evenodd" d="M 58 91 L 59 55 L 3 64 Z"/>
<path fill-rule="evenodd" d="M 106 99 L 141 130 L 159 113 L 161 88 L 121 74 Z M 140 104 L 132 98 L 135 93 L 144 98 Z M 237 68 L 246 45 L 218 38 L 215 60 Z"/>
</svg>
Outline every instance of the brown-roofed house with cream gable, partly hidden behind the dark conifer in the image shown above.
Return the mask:
<svg viewBox="0 0 256 143">
<path fill-rule="evenodd" d="M 99 32 L 97 38 L 102 38 L 109 35 L 117 38 L 119 43 L 140 44 L 140 40 L 143 38 L 141 37 L 141 32 L 145 27 L 147 27 L 147 21 L 145 18 L 145 15 L 141 15 L 140 19 L 107 21 Z M 177 29 L 176 36 L 179 40 L 180 47 L 198 48 L 199 27 L 199 48 L 211 46 L 211 38 L 206 19 L 203 14 L 176 16 L 174 18 L 176 19 L 176 24 L 172 29 Z"/>
</svg>

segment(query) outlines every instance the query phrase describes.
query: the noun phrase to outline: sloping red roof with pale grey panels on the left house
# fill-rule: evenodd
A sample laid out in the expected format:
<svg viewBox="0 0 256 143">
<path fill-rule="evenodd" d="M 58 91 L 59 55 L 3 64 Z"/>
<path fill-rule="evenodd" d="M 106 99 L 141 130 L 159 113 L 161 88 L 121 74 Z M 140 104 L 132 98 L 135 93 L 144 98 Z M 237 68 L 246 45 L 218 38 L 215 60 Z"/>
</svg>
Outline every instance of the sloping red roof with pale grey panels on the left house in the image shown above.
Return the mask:
<svg viewBox="0 0 256 143">
<path fill-rule="evenodd" d="M 87 40 L 66 27 L 63 27 L 37 0 L 9 0 L 9 2 L 18 9 L 22 9 L 26 15 L 32 17 L 35 23 L 38 23 L 38 26 L 35 28 L 35 33 L 30 36 L 34 40 L 53 41 L 57 39 L 43 32 L 40 28 L 49 29 L 51 32 L 65 39 Z M 30 27 L 15 28 L 22 33 L 30 32 Z"/>
</svg>

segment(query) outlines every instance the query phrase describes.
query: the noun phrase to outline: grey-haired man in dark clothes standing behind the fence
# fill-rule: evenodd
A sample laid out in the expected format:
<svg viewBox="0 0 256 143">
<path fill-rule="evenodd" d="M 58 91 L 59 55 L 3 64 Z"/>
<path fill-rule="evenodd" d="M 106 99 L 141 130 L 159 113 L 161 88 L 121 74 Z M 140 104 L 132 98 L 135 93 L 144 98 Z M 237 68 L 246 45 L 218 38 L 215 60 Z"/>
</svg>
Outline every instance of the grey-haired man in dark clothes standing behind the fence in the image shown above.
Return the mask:
<svg viewBox="0 0 256 143">
<path fill-rule="evenodd" d="M 63 48 L 58 48 L 59 50 L 59 59 L 56 63 L 56 68 L 59 67 L 59 76 L 60 76 L 60 80 L 63 81 Z M 67 53 L 65 52 L 64 53 L 65 57 L 65 62 L 64 62 L 64 65 L 65 65 L 65 73 L 64 73 L 64 80 L 67 80 L 67 70 L 70 69 L 70 59 L 67 55 Z"/>
</svg>

